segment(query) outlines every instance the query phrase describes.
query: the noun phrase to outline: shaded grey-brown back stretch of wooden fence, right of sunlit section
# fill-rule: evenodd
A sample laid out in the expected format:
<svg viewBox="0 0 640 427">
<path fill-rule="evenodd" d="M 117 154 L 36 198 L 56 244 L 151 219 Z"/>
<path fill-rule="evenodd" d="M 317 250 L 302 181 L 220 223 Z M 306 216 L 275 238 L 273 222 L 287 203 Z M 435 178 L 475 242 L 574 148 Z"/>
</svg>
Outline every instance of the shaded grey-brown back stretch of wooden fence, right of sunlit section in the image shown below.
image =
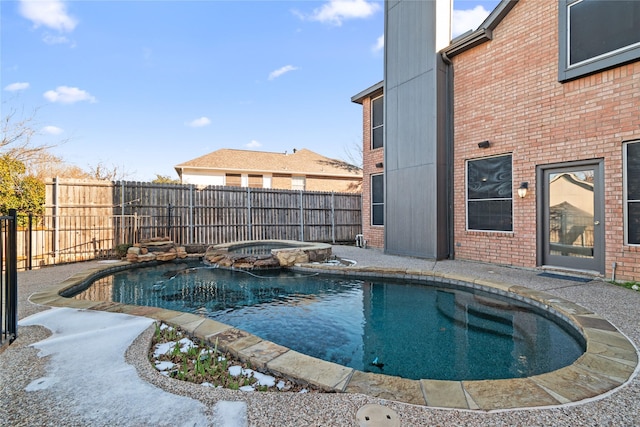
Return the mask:
<svg viewBox="0 0 640 427">
<path fill-rule="evenodd" d="M 138 218 L 138 239 L 166 228 L 182 244 L 353 242 L 362 229 L 361 196 L 352 193 L 119 182 L 114 204 L 120 216 Z"/>
</svg>

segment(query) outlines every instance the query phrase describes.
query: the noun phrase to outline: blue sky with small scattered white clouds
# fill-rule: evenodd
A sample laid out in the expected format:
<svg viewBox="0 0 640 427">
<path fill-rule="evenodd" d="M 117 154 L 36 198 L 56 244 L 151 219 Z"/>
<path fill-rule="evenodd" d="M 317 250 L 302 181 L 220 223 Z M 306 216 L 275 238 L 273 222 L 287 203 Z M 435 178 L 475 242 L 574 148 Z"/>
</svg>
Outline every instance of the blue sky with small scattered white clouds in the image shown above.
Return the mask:
<svg viewBox="0 0 640 427">
<path fill-rule="evenodd" d="M 499 0 L 455 0 L 454 36 Z M 177 178 L 220 148 L 349 160 L 383 78 L 382 1 L 0 2 L 2 118 L 85 170 Z M 63 142 L 63 143 L 60 143 Z"/>
</svg>

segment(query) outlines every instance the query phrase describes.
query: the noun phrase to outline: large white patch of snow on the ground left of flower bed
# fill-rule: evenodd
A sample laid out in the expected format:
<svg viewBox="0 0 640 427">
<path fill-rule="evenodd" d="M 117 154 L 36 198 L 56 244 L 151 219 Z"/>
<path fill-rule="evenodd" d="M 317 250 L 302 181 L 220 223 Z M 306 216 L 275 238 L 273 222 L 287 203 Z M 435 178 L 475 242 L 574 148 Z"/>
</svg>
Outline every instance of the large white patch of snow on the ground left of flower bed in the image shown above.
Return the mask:
<svg viewBox="0 0 640 427">
<path fill-rule="evenodd" d="M 52 331 L 50 337 L 32 344 L 40 357 L 50 356 L 48 380 L 40 383 L 47 388 L 34 392 L 84 418 L 85 425 L 212 425 L 204 404 L 152 386 L 126 363 L 127 348 L 153 323 L 151 319 L 52 308 L 19 323 Z M 33 390 L 37 385 L 28 387 Z"/>
</svg>

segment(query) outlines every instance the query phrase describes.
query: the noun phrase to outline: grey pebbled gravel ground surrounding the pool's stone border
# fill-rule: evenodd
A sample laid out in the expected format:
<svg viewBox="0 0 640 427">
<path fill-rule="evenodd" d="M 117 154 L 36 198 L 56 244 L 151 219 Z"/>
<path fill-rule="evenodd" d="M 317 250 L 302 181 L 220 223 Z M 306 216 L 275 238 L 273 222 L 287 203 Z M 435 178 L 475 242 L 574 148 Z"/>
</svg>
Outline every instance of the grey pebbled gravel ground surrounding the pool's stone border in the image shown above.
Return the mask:
<svg viewBox="0 0 640 427">
<path fill-rule="evenodd" d="M 433 270 L 487 278 L 544 290 L 572 300 L 616 325 L 634 343 L 640 342 L 640 292 L 633 292 L 603 281 L 577 283 L 542 278 L 540 271 L 500 267 L 463 261 L 428 261 L 388 256 L 374 249 L 334 247 L 334 254 L 355 260 L 360 266 L 401 267 Z M 46 267 L 21 272 L 19 280 L 19 318 L 48 309 L 28 302 L 28 296 L 47 286 L 60 283 L 95 262 Z M 177 396 L 196 399 L 213 412 L 225 402 L 245 402 L 246 422 L 227 425 L 250 426 L 358 426 L 356 412 L 366 404 L 385 405 L 398 413 L 403 426 L 638 426 L 640 425 L 640 379 L 636 375 L 624 386 L 599 399 L 554 408 L 472 412 L 441 410 L 385 401 L 356 394 L 243 393 L 208 389 L 172 380 L 160 375 L 149 364 L 146 352 L 151 329 L 129 347 L 126 360 L 136 367 L 148 383 Z M 26 392 L 33 380 L 46 376 L 48 358 L 38 357 L 31 344 L 45 339 L 50 332 L 40 326 L 20 326 L 18 339 L 0 354 L 0 425 L 76 426 L 87 425 L 84 418 L 65 410 L 59 402 L 40 399 Z M 82 348 L 78 348 L 82 351 Z M 98 369 L 98 367 L 97 367 Z M 108 375 L 105 372 L 105 375 Z M 73 378 L 68 378 L 73 381 Z M 117 384 L 114 384 L 117 387 Z M 99 392 L 97 390 L 96 392 Z M 68 402 L 69 408 L 73 402 Z M 114 407 L 112 410 L 117 411 Z M 158 408 L 170 411 L 171 408 Z M 92 425 L 100 425 L 93 423 Z M 107 425 L 107 424 L 105 424 Z M 119 425 L 127 425 L 123 422 Z M 373 425 L 373 424 L 370 424 Z M 379 424 L 385 425 L 385 424 Z"/>
</svg>

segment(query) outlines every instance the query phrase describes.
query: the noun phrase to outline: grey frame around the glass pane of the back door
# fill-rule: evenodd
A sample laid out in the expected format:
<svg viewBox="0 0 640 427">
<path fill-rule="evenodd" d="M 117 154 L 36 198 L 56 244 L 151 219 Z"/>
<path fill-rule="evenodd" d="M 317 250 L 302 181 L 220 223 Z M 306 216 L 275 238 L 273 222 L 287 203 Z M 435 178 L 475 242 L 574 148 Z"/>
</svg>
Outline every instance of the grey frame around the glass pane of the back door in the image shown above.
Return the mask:
<svg viewBox="0 0 640 427">
<path fill-rule="evenodd" d="M 548 242 L 548 201 L 545 174 L 550 170 L 580 170 L 584 167 L 594 169 L 593 182 L 593 219 L 599 221 L 599 225 L 593 230 L 593 259 L 585 261 L 584 258 L 567 257 L 566 263 L 548 263 L 547 257 L 549 253 Z M 605 206 L 604 206 L 604 159 L 580 160 L 574 162 L 550 163 L 546 165 L 536 166 L 536 247 L 537 247 L 537 264 L 540 267 L 555 267 L 560 269 L 596 271 L 600 274 L 605 273 Z M 554 259 L 558 259 L 555 258 Z M 558 264 L 558 265 L 557 265 Z"/>
</svg>

